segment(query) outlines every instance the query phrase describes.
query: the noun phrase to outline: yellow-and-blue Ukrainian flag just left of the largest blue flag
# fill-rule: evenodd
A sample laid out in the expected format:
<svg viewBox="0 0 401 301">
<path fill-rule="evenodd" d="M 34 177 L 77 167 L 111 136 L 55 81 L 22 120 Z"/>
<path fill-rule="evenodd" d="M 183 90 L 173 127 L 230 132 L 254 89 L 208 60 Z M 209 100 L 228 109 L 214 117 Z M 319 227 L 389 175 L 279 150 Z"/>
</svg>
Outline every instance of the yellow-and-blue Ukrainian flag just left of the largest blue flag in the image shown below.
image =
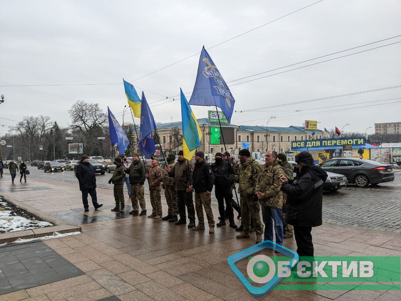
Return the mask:
<svg viewBox="0 0 401 301">
<path fill-rule="evenodd" d="M 184 158 L 191 160 L 195 154 L 196 148 L 201 146 L 202 133 L 199 124 L 196 121 L 194 112 L 192 112 L 184 93 L 181 92 L 181 116 L 182 116 L 182 150 Z"/>
</svg>

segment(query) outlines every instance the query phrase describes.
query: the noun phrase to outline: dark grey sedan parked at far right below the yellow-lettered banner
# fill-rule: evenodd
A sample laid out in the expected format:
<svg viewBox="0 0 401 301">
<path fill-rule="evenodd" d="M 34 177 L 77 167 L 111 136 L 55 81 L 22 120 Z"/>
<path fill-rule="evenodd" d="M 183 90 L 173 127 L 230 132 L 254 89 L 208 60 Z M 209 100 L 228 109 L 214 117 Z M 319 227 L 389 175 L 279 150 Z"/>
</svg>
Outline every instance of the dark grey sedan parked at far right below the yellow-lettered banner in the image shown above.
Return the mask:
<svg viewBox="0 0 401 301">
<path fill-rule="evenodd" d="M 358 187 L 394 181 L 394 172 L 391 165 L 368 159 L 336 158 L 324 161 L 318 166 L 325 171 L 346 176 L 348 183 L 355 184 Z"/>
</svg>

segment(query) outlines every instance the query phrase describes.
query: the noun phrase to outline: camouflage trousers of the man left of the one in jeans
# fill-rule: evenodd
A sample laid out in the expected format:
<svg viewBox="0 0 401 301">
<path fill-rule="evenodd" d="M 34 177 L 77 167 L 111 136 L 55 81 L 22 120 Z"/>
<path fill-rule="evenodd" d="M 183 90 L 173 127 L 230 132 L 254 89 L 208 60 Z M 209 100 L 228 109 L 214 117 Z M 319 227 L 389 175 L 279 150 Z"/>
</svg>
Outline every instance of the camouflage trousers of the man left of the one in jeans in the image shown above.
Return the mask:
<svg viewBox="0 0 401 301">
<path fill-rule="evenodd" d="M 241 194 L 241 219 L 244 225 L 244 232 L 246 234 L 251 232 L 251 219 L 253 221 L 256 234 L 263 234 L 263 224 L 260 220 L 259 199 L 256 195 Z"/>
</svg>

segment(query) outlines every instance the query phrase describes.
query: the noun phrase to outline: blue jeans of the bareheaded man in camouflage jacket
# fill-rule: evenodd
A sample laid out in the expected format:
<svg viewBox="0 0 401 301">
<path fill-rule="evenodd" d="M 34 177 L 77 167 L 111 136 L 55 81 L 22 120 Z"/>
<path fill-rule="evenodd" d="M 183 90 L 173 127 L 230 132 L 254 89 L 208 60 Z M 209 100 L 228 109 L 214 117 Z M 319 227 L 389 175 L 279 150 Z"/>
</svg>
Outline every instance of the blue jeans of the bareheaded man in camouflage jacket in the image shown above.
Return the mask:
<svg viewBox="0 0 401 301">
<path fill-rule="evenodd" d="M 262 206 L 262 219 L 265 224 L 265 240 L 273 241 L 273 221 L 276 244 L 283 245 L 282 209 Z"/>
</svg>

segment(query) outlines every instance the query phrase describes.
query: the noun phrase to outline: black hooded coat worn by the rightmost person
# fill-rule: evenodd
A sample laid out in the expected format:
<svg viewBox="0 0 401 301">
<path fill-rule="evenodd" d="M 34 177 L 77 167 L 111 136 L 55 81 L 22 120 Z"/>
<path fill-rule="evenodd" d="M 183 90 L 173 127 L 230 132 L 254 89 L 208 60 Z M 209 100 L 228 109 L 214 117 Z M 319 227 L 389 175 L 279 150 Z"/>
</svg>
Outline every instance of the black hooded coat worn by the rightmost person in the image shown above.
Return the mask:
<svg viewBox="0 0 401 301">
<path fill-rule="evenodd" d="M 322 224 L 323 183 L 326 179 L 326 171 L 312 164 L 303 166 L 294 180 L 283 183 L 281 190 L 288 195 L 288 224 L 304 227 Z"/>
</svg>

